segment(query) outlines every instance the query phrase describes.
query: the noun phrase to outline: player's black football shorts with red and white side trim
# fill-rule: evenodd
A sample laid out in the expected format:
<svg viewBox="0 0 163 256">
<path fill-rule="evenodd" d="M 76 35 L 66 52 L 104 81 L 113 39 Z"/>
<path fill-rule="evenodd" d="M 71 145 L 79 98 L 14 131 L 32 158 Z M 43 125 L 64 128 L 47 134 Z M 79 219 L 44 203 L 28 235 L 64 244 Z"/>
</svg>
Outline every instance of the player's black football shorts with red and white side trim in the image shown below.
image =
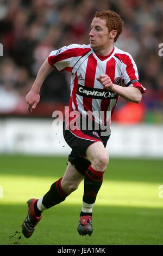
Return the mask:
<svg viewBox="0 0 163 256">
<path fill-rule="evenodd" d="M 85 159 L 87 148 L 95 143 L 101 141 L 106 147 L 107 141 L 110 137 L 102 136 L 102 130 L 68 130 L 65 129 L 65 122 L 63 123 L 63 134 L 66 143 L 72 148 L 68 156 L 68 161 L 75 166 L 75 168 L 83 175 L 91 164 L 89 160 Z"/>
</svg>

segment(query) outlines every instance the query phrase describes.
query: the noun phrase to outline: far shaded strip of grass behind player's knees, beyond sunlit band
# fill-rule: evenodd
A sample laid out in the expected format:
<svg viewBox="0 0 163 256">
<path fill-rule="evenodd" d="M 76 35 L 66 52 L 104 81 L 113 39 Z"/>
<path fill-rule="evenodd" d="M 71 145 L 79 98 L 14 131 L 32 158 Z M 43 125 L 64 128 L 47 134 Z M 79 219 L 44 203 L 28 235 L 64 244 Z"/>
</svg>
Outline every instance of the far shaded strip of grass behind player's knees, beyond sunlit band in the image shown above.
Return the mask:
<svg viewBox="0 0 163 256">
<path fill-rule="evenodd" d="M 0 155 L 0 163 L 1 174 L 5 175 L 60 177 L 65 172 L 67 158 Z M 104 178 L 117 181 L 160 183 L 163 182 L 162 164 L 161 159 L 111 158 Z"/>
</svg>

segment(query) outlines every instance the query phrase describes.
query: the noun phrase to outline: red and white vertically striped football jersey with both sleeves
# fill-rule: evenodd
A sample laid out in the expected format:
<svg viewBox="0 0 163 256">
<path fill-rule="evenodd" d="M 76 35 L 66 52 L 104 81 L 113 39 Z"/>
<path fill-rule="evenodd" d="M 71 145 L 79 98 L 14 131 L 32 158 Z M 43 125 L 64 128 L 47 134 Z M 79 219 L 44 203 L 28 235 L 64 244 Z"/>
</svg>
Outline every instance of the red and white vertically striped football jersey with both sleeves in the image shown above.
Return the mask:
<svg viewBox="0 0 163 256">
<path fill-rule="evenodd" d="M 100 56 L 90 45 L 72 44 L 52 51 L 48 62 L 59 72 L 67 70 L 72 73 L 70 111 L 79 111 L 80 114 L 91 111 L 95 113 L 98 123 L 102 122 L 96 115 L 100 111 L 104 112 L 104 123 L 110 123 L 119 97 L 116 93 L 104 90 L 96 79 L 99 75 L 107 74 L 114 84 L 134 86 L 142 93 L 146 91 L 139 83 L 137 67 L 131 55 L 115 46 L 108 56 Z"/>
</svg>

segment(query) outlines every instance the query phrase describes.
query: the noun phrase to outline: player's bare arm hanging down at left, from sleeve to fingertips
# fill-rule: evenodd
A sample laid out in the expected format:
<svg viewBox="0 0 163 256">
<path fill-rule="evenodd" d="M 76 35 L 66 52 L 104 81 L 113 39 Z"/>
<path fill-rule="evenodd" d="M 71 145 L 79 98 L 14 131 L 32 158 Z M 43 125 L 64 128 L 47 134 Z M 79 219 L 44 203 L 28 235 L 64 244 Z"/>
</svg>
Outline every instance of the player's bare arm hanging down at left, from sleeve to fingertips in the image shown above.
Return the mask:
<svg viewBox="0 0 163 256">
<path fill-rule="evenodd" d="M 28 104 L 28 110 L 30 113 L 32 113 L 32 110 L 35 109 L 39 103 L 41 85 L 53 69 L 54 68 L 48 63 L 47 59 L 45 62 L 43 62 L 41 68 L 39 69 L 34 84 L 26 96 L 26 102 Z"/>
</svg>

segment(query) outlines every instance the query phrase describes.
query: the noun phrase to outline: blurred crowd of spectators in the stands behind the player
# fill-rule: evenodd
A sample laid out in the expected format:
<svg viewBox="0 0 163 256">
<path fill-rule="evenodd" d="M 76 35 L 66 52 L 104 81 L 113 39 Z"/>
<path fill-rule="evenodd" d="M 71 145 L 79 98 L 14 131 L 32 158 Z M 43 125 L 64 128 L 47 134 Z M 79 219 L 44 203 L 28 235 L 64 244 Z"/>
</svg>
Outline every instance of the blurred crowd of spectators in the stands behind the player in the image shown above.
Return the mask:
<svg viewBox="0 0 163 256">
<path fill-rule="evenodd" d="M 116 46 L 133 56 L 148 94 L 161 97 L 162 0 L 0 0 L 0 112 L 26 112 L 24 97 L 43 61 L 64 45 L 89 44 L 91 20 L 103 9 L 121 15 L 124 28 Z M 41 102 L 67 104 L 69 81 L 70 74 L 52 72 L 42 86 Z M 148 97 L 145 103 L 153 108 Z"/>
</svg>

